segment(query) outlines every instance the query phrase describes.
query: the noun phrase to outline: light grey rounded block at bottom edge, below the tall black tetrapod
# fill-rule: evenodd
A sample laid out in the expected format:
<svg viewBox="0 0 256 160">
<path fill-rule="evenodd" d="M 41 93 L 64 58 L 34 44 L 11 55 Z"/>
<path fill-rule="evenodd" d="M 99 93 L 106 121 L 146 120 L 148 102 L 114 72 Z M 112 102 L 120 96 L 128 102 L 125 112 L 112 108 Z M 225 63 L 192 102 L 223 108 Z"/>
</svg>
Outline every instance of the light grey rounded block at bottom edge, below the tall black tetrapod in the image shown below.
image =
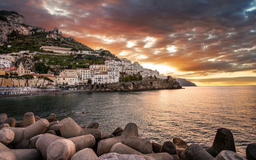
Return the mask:
<svg viewBox="0 0 256 160">
<path fill-rule="evenodd" d="M 246 158 L 233 151 L 223 150 L 214 158 L 214 160 L 246 160 Z"/>
</svg>

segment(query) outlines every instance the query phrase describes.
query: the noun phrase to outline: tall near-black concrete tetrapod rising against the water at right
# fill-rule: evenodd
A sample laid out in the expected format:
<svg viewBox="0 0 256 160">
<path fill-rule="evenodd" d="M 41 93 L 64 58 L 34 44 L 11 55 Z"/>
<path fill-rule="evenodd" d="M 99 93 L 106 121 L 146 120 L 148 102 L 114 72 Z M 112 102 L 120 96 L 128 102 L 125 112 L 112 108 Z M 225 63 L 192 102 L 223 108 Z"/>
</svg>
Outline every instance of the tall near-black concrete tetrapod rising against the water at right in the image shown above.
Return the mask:
<svg viewBox="0 0 256 160">
<path fill-rule="evenodd" d="M 217 130 L 212 146 L 206 149 L 213 157 L 216 157 L 222 150 L 236 152 L 233 134 L 226 128 L 219 128 Z"/>
</svg>

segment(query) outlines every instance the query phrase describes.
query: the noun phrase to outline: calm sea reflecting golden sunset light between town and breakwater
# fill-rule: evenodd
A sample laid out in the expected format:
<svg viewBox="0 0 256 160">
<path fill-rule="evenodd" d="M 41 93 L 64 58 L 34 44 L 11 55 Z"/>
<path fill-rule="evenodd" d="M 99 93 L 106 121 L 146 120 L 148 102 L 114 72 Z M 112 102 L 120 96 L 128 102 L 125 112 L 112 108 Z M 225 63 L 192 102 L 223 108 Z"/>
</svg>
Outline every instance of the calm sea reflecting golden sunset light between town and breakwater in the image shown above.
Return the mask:
<svg viewBox="0 0 256 160">
<path fill-rule="evenodd" d="M 85 111 L 86 114 L 81 112 Z M 238 153 L 244 155 L 256 142 L 256 86 L 186 87 L 181 90 L 92 92 L 0 99 L 0 113 L 21 120 L 26 112 L 47 118 L 72 117 L 87 126 L 100 124 L 112 133 L 128 122 L 138 125 L 139 135 L 163 143 L 174 137 L 188 144 L 211 146 L 218 128 L 232 131 Z"/>
</svg>

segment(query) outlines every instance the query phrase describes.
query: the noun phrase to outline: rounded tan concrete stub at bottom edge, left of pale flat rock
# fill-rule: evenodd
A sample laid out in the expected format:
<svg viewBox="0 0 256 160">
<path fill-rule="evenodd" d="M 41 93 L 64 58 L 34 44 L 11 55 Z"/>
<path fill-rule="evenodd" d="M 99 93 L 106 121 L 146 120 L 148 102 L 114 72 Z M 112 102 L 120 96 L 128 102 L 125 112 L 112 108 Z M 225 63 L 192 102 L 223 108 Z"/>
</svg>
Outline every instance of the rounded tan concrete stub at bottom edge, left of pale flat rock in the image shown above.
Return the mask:
<svg viewBox="0 0 256 160">
<path fill-rule="evenodd" d="M 71 160 L 98 160 L 98 156 L 91 148 L 85 148 L 76 152 Z"/>
</svg>

